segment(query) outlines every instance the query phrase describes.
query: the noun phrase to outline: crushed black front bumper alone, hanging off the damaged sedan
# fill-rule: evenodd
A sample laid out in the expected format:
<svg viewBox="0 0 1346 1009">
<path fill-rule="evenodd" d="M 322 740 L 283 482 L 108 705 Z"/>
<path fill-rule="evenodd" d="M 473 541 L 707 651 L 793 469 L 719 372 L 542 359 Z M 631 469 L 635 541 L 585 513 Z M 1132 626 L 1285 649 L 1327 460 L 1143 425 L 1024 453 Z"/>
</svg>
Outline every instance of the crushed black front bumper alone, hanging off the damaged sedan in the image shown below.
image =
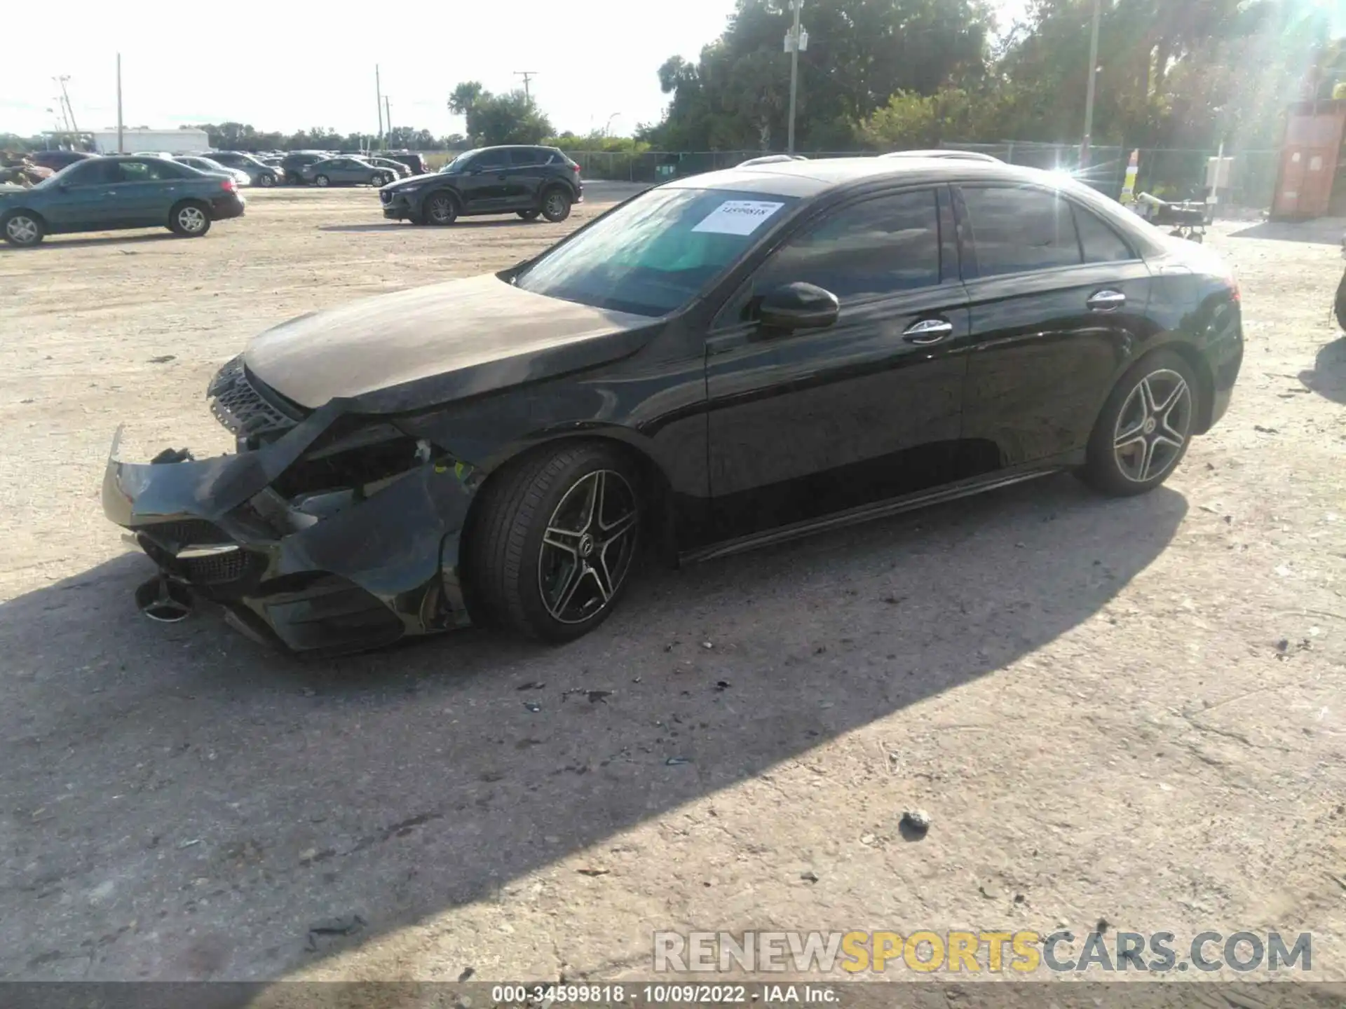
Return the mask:
<svg viewBox="0 0 1346 1009">
<path fill-rule="evenodd" d="M 131 530 L 164 587 L 223 607 L 250 638 L 291 651 L 381 647 L 470 623 L 459 534 L 470 467 L 424 461 L 324 517 L 272 483 L 335 420 L 316 410 L 271 445 L 182 461 L 124 463 L 121 429 L 102 482 L 109 519 Z"/>
</svg>

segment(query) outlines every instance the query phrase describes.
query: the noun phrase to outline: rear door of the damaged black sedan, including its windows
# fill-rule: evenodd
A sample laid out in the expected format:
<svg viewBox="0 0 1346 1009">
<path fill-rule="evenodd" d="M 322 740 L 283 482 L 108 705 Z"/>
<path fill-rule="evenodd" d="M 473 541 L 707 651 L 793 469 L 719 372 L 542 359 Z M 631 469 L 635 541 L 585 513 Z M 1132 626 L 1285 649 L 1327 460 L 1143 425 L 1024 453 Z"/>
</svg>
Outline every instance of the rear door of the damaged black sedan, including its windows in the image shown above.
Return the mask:
<svg viewBox="0 0 1346 1009">
<path fill-rule="evenodd" d="M 1149 270 L 1101 217 L 1049 188 L 956 188 L 972 354 L 964 476 L 1085 447 L 1148 330 Z"/>
</svg>

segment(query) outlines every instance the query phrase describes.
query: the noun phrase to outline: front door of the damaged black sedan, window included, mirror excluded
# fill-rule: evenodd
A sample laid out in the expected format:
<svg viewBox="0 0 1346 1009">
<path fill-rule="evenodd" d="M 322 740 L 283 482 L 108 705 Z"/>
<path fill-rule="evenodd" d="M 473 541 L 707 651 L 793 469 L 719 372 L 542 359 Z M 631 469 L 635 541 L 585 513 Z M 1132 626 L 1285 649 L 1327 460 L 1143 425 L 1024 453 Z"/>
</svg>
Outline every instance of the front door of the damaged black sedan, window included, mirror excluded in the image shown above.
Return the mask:
<svg viewBox="0 0 1346 1009">
<path fill-rule="evenodd" d="M 720 538 L 953 479 L 969 316 L 952 231 L 942 187 L 852 202 L 787 238 L 720 312 L 707 343 Z M 837 296 L 833 326 L 755 322 L 762 295 L 794 281 Z"/>
</svg>

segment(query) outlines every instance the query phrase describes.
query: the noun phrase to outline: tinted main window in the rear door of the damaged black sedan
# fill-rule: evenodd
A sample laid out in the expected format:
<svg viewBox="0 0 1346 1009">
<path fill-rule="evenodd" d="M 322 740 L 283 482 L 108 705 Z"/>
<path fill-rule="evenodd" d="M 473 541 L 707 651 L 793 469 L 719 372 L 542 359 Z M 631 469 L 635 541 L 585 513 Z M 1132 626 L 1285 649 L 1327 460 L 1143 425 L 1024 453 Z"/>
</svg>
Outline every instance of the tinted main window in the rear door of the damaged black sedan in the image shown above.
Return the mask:
<svg viewBox="0 0 1346 1009">
<path fill-rule="evenodd" d="M 965 187 L 962 200 L 980 276 L 1079 264 L 1079 242 L 1070 206 L 1050 192 Z"/>
</svg>

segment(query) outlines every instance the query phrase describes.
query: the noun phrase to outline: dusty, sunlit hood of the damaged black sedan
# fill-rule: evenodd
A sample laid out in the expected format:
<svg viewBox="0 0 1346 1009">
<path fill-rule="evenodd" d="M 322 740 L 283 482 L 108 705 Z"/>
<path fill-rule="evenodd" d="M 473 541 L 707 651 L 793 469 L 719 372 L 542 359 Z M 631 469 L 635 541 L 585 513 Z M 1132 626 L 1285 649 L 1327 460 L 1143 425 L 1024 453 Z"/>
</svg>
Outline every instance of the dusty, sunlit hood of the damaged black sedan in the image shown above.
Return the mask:
<svg viewBox="0 0 1346 1009">
<path fill-rule="evenodd" d="M 486 274 L 302 315 L 254 336 L 244 363 L 310 409 L 338 397 L 415 409 L 615 361 L 639 346 L 623 338 L 651 323 Z M 452 381 L 428 382 L 437 377 Z M 419 382 L 427 389 L 411 393 Z"/>
</svg>

